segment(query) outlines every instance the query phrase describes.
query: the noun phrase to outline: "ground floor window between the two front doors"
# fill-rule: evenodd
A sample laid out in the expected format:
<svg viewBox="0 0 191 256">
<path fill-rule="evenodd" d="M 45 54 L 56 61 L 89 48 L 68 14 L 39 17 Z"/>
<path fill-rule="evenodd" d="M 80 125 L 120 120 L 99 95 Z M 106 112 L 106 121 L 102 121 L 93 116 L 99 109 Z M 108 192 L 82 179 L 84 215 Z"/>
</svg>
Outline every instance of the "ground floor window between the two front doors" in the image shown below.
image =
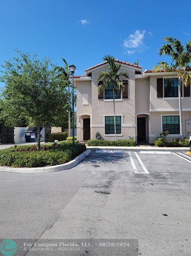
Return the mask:
<svg viewBox="0 0 191 256">
<path fill-rule="evenodd" d="M 116 134 L 121 134 L 121 116 L 115 116 Z M 105 116 L 105 134 L 115 134 L 114 116 Z"/>
</svg>

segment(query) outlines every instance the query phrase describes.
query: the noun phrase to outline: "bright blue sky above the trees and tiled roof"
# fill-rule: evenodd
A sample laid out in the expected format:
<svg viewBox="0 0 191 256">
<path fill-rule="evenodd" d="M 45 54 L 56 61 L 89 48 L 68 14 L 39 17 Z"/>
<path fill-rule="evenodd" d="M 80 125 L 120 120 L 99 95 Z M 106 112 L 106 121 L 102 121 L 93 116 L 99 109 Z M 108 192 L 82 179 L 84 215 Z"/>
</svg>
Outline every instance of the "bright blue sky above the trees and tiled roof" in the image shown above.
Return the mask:
<svg viewBox="0 0 191 256">
<path fill-rule="evenodd" d="M 179 15 L 181 15 L 179 17 Z M 106 54 L 151 69 L 162 38 L 191 39 L 190 0 L 1 0 L 0 64 L 17 48 L 40 58 L 61 57 L 77 67 L 75 75 L 102 62 Z"/>
</svg>

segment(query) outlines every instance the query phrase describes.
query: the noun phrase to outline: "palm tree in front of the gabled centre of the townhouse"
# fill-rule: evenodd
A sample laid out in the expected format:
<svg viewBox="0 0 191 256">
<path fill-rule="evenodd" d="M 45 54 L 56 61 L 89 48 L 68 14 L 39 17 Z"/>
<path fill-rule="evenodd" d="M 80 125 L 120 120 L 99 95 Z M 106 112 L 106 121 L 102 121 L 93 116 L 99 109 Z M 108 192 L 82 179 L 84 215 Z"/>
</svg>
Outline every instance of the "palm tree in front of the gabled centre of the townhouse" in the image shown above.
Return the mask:
<svg viewBox="0 0 191 256">
<path fill-rule="evenodd" d="M 129 79 L 127 72 L 120 72 L 121 64 L 115 64 L 115 59 L 111 55 L 105 55 L 103 57 L 104 61 L 107 61 L 109 64 L 108 70 L 103 70 L 97 76 L 98 83 L 102 79 L 102 84 L 98 86 L 98 93 L 101 90 L 106 89 L 109 85 L 112 86 L 113 90 L 113 103 L 114 103 L 114 132 L 115 132 L 115 140 L 116 140 L 116 120 L 115 120 L 115 92 L 122 92 L 124 90 L 124 84 L 120 81 L 120 76 L 125 76 Z"/>
</svg>

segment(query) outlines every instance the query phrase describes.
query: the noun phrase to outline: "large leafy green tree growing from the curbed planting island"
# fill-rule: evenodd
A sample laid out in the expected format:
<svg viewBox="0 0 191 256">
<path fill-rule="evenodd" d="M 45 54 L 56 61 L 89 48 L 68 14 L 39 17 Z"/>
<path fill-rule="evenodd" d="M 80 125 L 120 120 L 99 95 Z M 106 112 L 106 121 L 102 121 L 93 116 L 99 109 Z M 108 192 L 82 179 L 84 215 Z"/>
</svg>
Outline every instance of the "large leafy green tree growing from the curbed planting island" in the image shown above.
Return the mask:
<svg viewBox="0 0 191 256">
<path fill-rule="evenodd" d="M 15 125 L 21 117 L 37 126 L 38 150 L 40 150 L 40 127 L 56 125 L 67 108 L 68 92 L 57 76 L 49 58 L 40 60 L 16 50 L 18 58 L 6 61 L 3 89 L 6 125 Z"/>
</svg>

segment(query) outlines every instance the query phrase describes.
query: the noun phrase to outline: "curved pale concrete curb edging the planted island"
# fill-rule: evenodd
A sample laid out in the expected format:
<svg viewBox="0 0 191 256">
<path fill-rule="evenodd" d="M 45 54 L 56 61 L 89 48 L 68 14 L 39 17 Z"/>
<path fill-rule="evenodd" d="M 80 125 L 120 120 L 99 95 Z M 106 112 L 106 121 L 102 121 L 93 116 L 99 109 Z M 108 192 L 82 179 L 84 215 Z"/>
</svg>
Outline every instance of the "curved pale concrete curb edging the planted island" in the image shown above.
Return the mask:
<svg viewBox="0 0 191 256">
<path fill-rule="evenodd" d="M 63 163 L 56 166 L 48 167 L 35 167 L 35 168 L 14 168 L 14 167 L 0 167 L 0 172 L 18 172 L 18 173 L 42 173 L 42 172 L 58 172 L 71 169 L 77 166 L 83 158 L 85 158 L 91 152 L 90 149 L 87 149 L 82 154 L 74 158 L 68 163 Z"/>
</svg>

